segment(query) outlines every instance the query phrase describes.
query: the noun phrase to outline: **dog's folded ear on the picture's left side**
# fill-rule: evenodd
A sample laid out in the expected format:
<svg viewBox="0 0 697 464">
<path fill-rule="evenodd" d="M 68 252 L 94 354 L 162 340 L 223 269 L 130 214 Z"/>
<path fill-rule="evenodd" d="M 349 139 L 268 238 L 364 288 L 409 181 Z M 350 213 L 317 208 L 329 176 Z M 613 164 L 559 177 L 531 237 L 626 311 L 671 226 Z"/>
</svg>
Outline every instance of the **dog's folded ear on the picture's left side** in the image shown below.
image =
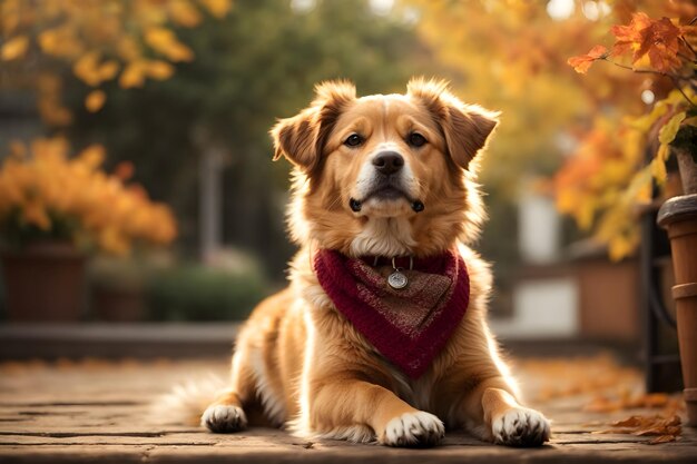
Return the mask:
<svg viewBox="0 0 697 464">
<path fill-rule="evenodd" d="M 356 98 L 348 81 L 325 81 L 315 87 L 315 99 L 297 116 L 281 119 L 271 130 L 274 161 L 285 156 L 305 171 L 313 170 L 322 159 L 324 144 L 346 105 Z"/>
</svg>

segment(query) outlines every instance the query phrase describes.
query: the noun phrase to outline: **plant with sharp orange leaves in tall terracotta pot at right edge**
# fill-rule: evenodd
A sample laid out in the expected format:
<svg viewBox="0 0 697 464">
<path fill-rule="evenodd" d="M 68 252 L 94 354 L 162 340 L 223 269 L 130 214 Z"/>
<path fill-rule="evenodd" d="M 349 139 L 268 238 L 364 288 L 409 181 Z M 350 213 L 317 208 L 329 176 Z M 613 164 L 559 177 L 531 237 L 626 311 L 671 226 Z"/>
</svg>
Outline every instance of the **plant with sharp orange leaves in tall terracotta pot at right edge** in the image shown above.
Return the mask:
<svg viewBox="0 0 697 464">
<path fill-rule="evenodd" d="M 677 307 L 678 339 L 685 383 L 688 423 L 697 425 L 697 18 L 677 23 L 668 18 L 652 19 L 642 12 L 627 26 L 615 26 L 611 50 L 593 47 L 587 55 L 569 59 L 585 73 L 595 61 L 609 61 L 637 73 L 670 82 L 673 91 L 654 103 L 651 111 L 632 121 L 648 135 L 654 146 L 647 170 L 637 172 L 632 185 L 644 178 L 662 185 L 666 161 L 677 160 L 683 195 L 668 199 L 660 208 L 658 223 L 671 240 L 676 285 L 673 296 Z M 630 63 L 619 60 L 630 58 Z M 650 172 L 650 176 L 646 176 Z M 629 187 L 631 188 L 631 186 Z"/>
</svg>

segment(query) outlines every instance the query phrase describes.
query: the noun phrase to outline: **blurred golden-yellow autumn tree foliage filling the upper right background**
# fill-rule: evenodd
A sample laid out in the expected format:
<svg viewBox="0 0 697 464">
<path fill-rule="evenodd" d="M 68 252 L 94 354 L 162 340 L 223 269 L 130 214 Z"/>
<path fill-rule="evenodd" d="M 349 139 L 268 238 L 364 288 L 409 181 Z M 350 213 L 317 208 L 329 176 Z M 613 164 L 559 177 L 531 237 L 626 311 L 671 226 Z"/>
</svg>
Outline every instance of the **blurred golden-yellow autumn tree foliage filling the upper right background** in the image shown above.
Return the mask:
<svg viewBox="0 0 697 464">
<path fill-rule="evenodd" d="M 647 105 L 658 107 L 654 116 L 662 111 L 664 103 L 649 100 L 662 100 L 674 82 L 660 72 L 628 72 L 618 66 L 596 67 L 579 76 L 567 60 L 591 49 L 581 67 L 606 58 L 606 50 L 593 46 L 607 40 L 612 24 L 630 24 L 632 14 L 642 11 L 657 20 L 644 31 L 647 43 L 664 29 L 669 40 L 641 48 L 634 33 L 642 32 L 635 24 L 617 29 L 619 47 L 639 53 L 639 61 L 652 55 L 665 69 L 675 62 L 670 57 L 680 40 L 676 30 L 683 31 L 679 28 L 697 14 L 696 3 L 404 0 L 402 4 L 420 12 L 418 29 L 451 68 L 459 92 L 502 110 L 501 129 L 484 162 L 484 182 L 514 199 L 521 178 L 552 175 L 563 166 L 553 182 L 538 186 L 553 192 L 559 209 L 581 229 L 609 245 L 612 257 L 631 253 L 639 238 L 631 205 L 637 196 L 646 197 L 651 175 L 640 170 L 646 130 L 635 130 L 626 117 L 645 115 Z M 566 11 L 556 11 L 559 4 Z M 637 124 L 651 126 L 646 119 Z M 661 167 L 656 162 L 655 172 Z"/>
</svg>

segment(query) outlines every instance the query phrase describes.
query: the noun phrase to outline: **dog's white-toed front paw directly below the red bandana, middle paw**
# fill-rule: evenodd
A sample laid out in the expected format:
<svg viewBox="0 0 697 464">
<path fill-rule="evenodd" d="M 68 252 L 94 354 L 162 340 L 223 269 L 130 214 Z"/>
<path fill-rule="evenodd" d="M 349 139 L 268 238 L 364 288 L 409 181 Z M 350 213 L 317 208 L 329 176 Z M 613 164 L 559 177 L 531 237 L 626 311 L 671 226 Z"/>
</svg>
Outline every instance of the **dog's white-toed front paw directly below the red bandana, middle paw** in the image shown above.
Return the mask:
<svg viewBox="0 0 697 464">
<path fill-rule="evenodd" d="M 418 411 L 390 421 L 381 442 L 387 446 L 434 446 L 444 435 L 445 427 L 440 418 Z"/>
</svg>

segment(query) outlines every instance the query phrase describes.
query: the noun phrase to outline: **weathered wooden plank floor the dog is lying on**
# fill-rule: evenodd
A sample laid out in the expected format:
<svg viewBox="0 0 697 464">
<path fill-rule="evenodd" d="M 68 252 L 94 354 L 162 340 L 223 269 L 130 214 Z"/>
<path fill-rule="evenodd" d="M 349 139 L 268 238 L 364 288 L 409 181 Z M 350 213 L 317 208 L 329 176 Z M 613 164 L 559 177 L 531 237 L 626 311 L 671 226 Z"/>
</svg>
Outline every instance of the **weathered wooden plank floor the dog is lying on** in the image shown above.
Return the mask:
<svg viewBox="0 0 697 464">
<path fill-rule="evenodd" d="M 648 445 L 650 437 L 593 434 L 608 428 L 612 419 L 651 412 L 582 412 L 590 399 L 588 388 L 577 387 L 583 373 L 565 375 L 565 365 L 558 362 L 553 368 L 540 368 L 522 362 L 518 368 L 532 404 L 553 419 L 551 444 L 519 450 L 493 446 L 451 432 L 435 448 L 396 450 L 334 441 L 308 442 L 267 428 L 214 435 L 196 426 L 157 425 L 148 418 L 154 398 L 174 384 L 209 373 L 225 377 L 225 359 L 3 362 L 0 363 L 0 463 L 697 462 L 697 434 L 688 427 L 677 442 L 660 445 Z M 575 368 L 572 362 L 569 366 Z M 587 369 L 588 363 L 579 368 Z M 602 374 L 585 375 L 592 386 L 598 384 L 593 377 Z M 625 372 L 612 378 L 625 383 L 622 387 L 628 389 L 640 384 L 638 373 Z M 549 394 L 550 385 L 557 393 L 563 393 L 563 388 L 567 392 Z M 621 385 L 606 386 L 615 391 Z M 539 395 L 542 391 L 548 393 L 543 396 L 551 398 L 542 399 Z"/>
</svg>

